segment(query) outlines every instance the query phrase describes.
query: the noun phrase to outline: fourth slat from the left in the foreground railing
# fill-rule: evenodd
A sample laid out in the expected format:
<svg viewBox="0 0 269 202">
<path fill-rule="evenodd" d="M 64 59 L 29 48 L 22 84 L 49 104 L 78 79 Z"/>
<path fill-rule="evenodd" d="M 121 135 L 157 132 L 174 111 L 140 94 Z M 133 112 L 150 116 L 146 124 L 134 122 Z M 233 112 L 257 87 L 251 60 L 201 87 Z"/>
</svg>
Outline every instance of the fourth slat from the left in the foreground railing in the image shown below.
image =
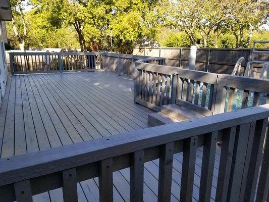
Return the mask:
<svg viewBox="0 0 269 202">
<path fill-rule="evenodd" d="M 143 201 L 144 151 L 131 154 L 130 161 L 130 202 Z"/>
</svg>

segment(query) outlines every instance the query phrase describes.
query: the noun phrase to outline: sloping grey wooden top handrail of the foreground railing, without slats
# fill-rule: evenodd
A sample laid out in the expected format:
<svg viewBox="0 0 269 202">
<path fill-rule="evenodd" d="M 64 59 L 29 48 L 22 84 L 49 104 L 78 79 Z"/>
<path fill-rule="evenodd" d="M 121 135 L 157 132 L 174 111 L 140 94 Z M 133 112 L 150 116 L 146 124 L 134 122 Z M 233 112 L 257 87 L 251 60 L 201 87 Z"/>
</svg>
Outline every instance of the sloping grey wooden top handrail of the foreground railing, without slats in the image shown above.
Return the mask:
<svg viewBox="0 0 269 202">
<path fill-rule="evenodd" d="M 0 159 L 0 186 L 269 117 L 269 104 Z"/>
</svg>

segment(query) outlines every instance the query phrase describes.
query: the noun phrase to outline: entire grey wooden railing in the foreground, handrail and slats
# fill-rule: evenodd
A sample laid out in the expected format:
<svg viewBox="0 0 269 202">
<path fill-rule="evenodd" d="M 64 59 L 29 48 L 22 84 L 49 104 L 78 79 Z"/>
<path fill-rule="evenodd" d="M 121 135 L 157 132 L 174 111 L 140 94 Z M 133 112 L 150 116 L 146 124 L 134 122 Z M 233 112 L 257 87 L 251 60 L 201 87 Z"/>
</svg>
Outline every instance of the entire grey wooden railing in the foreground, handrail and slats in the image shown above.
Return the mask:
<svg viewBox="0 0 269 202">
<path fill-rule="evenodd" d="M 196 149 L 203 145 L 199 201 L 209 201 L 222 140 L 213 199 L 265 201 L 268 117 L 269 105 L 263 105 L 0 159 L 0 200 L 32 201 L 32 195 L 63 187 L 64 201 L 77 201 L 77 182 L 98 177 L 99 200 L 109 202 L 113 172 L 130 168 L 130 201 L 143 201 L 144 163 L 159 159 L 158 201 L 170 201 L 173 156 L 183 152 L 180 201 L 191 201 Z"/>
</svg>

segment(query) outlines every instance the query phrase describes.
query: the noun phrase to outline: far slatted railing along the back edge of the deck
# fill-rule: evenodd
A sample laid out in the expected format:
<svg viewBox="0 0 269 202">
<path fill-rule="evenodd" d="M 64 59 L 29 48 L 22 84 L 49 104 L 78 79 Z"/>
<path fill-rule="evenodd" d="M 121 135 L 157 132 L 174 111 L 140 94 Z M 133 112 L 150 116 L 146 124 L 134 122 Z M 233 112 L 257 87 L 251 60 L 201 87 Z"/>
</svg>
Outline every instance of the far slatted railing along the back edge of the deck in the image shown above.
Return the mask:
<svg viewBox="0 0 269 202">
<path fill-rule="evenodd" d="M 104 52 L 11 52 L 9 55 L 11 74 L 107 70 L 134 76 L 135 61 L 152 60 L 151 57 Z M 166 64 L 165 58 L 153 60 L 159 65 Z"/>
</svg>

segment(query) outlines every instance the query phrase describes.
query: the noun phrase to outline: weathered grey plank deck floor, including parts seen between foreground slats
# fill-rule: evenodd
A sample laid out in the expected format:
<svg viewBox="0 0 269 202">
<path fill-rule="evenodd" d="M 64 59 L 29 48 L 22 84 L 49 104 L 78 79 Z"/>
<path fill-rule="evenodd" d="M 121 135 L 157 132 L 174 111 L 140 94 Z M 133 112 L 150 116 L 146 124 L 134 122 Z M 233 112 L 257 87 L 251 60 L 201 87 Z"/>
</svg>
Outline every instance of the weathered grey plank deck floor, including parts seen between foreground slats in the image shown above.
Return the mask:
<svg viewBox="0 0 269 202">
<path fill-rule="evenodd" d="M 0 109 L 1 158 L 147 127 L 153 111 L 133 102 L 133 79 L 109 72 L 12 77 Z M 199 198 L 202 148 L 197 149 L 193 201 Z M 182 153 L 174 155 L 171 201 L 179 201 Z M 220 148 L 211 198 L 217 187 Z M 129 169 L 113 173 L 114 201 L 129 201 Z M 158 160 L 144 165 L 144 201 L 157 201 Z M 98 178 L 78 183 L 79 201 L 98 201 Z M 33 196 L 63 201 L 61 189 Z"/>
</svg>

